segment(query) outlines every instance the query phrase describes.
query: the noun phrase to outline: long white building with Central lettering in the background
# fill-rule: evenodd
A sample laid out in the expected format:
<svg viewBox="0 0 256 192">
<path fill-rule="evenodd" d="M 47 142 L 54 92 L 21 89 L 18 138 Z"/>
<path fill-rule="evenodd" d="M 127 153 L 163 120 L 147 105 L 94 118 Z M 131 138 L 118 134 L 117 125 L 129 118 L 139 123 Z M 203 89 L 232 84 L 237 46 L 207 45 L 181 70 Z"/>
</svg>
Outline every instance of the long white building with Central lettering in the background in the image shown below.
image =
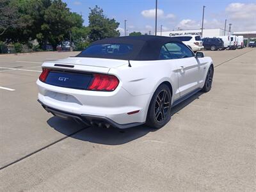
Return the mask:
<svg viewBox="0 0 256 192">
<path fill-rule="evenodd" d="M 159 36 L 175 36 L 175 35 L 202 35 L 202 29 L 192 29 L 192 30 L 180 30 L 180 31 L 157 31 Z M 204 29 L 203 37 L 213 37 L 213 36 L 223 36 L 224 29 Z M 225 35 L 231 35 L 229 31 L 226 30 Z"/>
</svg>

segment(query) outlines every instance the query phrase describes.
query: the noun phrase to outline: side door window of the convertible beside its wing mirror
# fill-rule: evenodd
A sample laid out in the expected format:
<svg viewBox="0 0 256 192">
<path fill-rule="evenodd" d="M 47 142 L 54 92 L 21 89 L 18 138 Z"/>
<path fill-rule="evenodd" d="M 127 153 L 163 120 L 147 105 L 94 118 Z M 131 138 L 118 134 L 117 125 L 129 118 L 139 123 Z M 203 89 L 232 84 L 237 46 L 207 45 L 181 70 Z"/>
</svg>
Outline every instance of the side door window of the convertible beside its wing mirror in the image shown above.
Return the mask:
<svg viewBox="0 0 256 192">
<path fill-rule="evenodd" d="M 194 53 L 184 44 L 179 43 L 168 43 L 164 45 L 170 52 L 172 59 L 191 58 Z"/>
</svg>

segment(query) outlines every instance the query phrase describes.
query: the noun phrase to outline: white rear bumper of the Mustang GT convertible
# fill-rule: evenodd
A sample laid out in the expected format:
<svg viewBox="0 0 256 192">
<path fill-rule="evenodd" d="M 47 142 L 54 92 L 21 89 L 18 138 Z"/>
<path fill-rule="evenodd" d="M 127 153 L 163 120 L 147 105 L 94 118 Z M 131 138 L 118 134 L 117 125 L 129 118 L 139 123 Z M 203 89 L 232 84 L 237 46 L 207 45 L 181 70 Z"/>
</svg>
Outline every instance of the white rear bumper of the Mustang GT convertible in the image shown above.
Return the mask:
<svg viewBox="0 0 256 192">
<path fill-rule="evenodd" d="M 121 86 L 113 92 L 93 92 L 52 86 L 39 80 L 36 84 L 42 105 L 66 116 L 86 116 L 86 119 L 96 116 L 121 129 L 143 124 L 147 118 L 150 94 L 134 96 Z M 132 111 L 139 112 L 129 115 Z"/>
</svg>

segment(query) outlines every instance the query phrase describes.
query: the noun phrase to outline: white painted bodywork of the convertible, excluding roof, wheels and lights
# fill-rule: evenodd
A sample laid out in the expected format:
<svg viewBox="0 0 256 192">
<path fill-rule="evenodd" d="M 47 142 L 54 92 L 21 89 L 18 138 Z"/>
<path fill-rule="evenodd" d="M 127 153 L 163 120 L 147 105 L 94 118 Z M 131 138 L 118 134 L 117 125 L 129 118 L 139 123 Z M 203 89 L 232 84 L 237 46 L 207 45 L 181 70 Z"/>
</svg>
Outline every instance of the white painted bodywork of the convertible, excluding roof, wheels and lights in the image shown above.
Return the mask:
<svg viewBox="0 0 256 192">
<path fill-rule="evenodd" d="M 109 118 L 116 124 L 143 124 L 148 106 L 159 84 L 167 81 L 172 85 L 172 104 L 182 96 L 204 86 L 207 70 L 212 65 L 209 57 L 182 58 L 175 60 L 130 61 L 100 58 L 70 57 L 46 61 L 42 67 L 56 67 L 56 63 L 72 64 L 70 70 L 112 74 L 120 83 L 113 92 L 96 92 L 52 86 L 40 81 L 38 99 L 45 106 L 77 115 L 97 115 Z M 128 115 L 130 111 L 139 113 Z"/>
</svg>

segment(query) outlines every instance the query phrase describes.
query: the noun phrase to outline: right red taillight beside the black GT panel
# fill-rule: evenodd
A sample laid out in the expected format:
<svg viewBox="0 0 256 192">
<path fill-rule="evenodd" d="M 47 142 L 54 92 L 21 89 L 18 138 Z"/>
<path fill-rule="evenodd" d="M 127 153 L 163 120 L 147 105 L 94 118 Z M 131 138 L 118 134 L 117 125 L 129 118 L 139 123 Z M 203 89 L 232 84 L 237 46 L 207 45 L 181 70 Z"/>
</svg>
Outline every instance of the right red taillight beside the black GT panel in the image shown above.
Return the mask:
<svg viewBox="0 0 256 192">
<path fill-rule="evenodd" d="M 119 80 L 115 76 L 106 74 L 93 74 L 92 83 L 88 90 L 111 92 L 116 89 Z"/>
</svg>

